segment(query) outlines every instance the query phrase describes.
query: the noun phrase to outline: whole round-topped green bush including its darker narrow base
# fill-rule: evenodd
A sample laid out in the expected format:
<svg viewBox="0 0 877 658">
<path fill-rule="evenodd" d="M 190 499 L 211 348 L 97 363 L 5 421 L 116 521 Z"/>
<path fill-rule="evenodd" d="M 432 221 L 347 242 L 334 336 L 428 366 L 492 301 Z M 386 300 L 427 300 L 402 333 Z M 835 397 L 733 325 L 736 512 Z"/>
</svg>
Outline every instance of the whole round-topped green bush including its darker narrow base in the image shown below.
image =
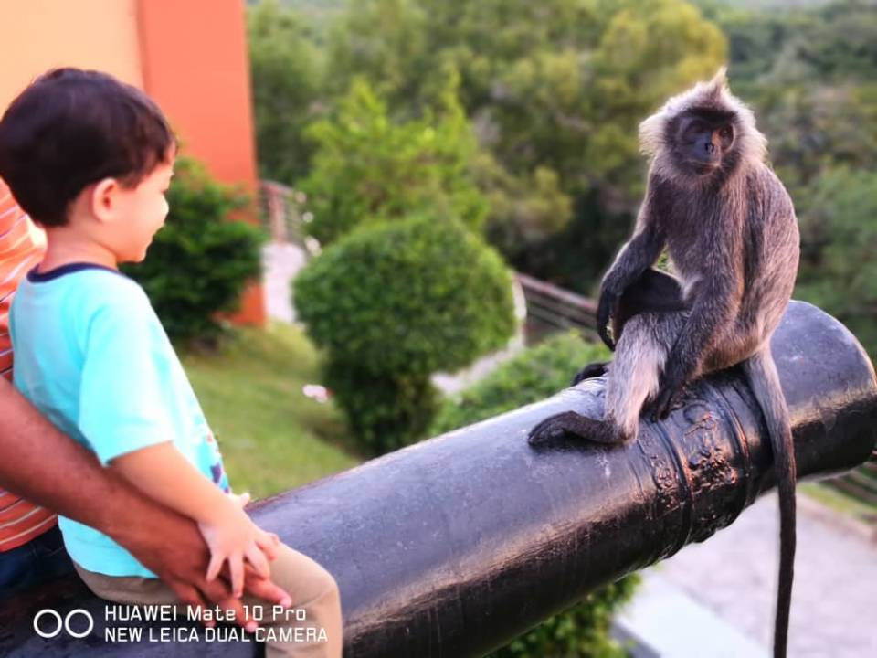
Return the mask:
<svg viewBox="0 0 877 658">
<path fill-rule="evenodd" d="M 436 408 L 429 376 L 468 365 L 514 331 L 502 260 L 458 221 L 428 215 L 338 240 L 296 278 L 295 304 L 372 452 L 422 438 Z"/>
</svg>

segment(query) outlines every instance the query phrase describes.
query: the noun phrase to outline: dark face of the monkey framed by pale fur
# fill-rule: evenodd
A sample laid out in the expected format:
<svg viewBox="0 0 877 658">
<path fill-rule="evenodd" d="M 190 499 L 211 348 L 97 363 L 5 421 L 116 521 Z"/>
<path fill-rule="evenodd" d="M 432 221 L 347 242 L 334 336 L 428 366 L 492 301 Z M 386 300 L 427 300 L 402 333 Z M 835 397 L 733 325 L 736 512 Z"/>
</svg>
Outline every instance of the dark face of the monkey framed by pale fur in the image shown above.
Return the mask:
<svg viewBox="0 0 877 658">
<path fill-rule="evenodd" d="M 694 175 L 709 175 L 721 167 L 734 150 L 734 115 L 686 111 L 676 122 L 672 136 L 678 163 Z"/>
</svg>

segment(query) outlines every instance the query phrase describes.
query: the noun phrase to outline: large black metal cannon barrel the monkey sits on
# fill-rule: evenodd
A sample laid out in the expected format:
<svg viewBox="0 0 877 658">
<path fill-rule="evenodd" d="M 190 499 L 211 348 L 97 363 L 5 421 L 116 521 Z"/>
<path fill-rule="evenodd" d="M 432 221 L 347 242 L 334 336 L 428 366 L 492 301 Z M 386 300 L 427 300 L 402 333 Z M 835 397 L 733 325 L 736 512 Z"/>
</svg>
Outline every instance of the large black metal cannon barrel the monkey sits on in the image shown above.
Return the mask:
<svg viewBox="0 0 877 658">
<path fill-rule="evenodd" d="M 793 302 L 772 349 L 799 476 L 825 477 L 867 460 L 877 437 L 877 383 L 850 332 Z M 528 430 L 549 414 L 599 413 L 602 390 L 601 380 L 586 381 L 282 493 L 254 515 L 337 578 L 345 655 L 483 655 L 588 591 L 707 539 L 774 484 L 761 413 L 734 370 L 692 386 L 666 421 L 643 419 L 630 445 L 527 445 Z M 81 639 L 37 637 L 33 618 L 47 607 L 87 610 L 94 629 Z M 105 629 L 120 624 L 102 610 L 72 580 L 7 600 L 0 654 L 256 652 L 252 642 L 113 645 Z M 197 630 L 191 621 L 176 626 Z"/>
</svg>

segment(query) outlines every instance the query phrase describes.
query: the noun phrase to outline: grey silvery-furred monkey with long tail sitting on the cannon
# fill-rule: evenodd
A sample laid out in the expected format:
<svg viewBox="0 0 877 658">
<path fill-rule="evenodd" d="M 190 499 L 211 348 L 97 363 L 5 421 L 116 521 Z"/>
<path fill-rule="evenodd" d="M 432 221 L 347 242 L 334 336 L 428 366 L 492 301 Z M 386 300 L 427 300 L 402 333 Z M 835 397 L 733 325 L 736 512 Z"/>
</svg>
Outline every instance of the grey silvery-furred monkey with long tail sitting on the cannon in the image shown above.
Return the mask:
<svg viewBox="0 0 877 658">
<path fill-rule="evenodd" d="M 766 164 L 755 115 L 731 93 L 724 68 L 666 101 L 640 124 L 639 141 L 650 159 L 645 198 L 597 303 L 598 334 L 615 356 L 577 376 L 605 372 L 604 416 L 566 411 L 538 423 L 528 440 L 627 443 L 636 439 L 640 414 L 665 419 L 681 406 L 687 384 L 741 365 L 766 419 L 777 476 L 779 658 L 787 650 L 794 577 L 796 465 L 770 338 L 795 286 L 798 220 Z M 675 276 L 652 269 L 665 249 Z M 613 337 L 610 316 L 617 316 Z"/>
</svg>

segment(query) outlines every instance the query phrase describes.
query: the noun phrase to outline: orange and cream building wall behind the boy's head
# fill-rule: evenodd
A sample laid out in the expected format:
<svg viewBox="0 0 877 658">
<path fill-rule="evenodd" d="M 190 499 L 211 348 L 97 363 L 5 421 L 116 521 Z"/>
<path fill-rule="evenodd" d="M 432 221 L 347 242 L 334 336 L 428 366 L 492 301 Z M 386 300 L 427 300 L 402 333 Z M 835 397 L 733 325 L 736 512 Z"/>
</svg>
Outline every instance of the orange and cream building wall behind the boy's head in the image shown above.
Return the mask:
<svg viewBox="0 0 877 658">
<path fill-rule="evenodd" d="M 0 0 L 0 111 L 47 69 L 100 69 L 145 90 L 186 154 L 255 195 L 246 37 L 244 0 Z M 252 286 L 233 319 L 263 324 L 262 297 Z"/>
</svg>

